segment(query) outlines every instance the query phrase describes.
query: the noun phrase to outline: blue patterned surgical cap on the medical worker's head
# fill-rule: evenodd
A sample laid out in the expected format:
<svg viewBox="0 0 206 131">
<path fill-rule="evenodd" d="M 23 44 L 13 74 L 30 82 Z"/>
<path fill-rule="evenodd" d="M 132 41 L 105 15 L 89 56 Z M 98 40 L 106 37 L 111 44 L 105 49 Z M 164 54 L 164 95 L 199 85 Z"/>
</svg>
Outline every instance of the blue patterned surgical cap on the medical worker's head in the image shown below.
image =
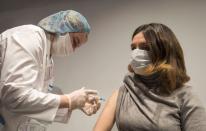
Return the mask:
<svg viewBox="0 0 206 131">
<path fill-rule="evenodd" d="M 65 34 L 68 32 L 90 32 L 90 25 L 86 18 L 74 10 L 60 11 L 42 19 L 38 26 L 44 30 L 56 33 Z"/>
</svg>

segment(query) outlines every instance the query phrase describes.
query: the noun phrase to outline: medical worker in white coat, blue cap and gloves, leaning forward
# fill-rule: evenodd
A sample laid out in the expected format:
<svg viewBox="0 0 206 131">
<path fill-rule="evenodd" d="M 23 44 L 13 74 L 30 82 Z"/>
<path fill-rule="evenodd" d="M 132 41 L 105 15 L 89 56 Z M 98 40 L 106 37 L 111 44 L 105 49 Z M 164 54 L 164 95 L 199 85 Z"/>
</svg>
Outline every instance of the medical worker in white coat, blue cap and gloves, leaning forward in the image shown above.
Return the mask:
<svg viewBox="0 0 206 131">
<path fill-rule="evenodd" d="M 86 115 L 96 113 L 100 107 L 96 90 L 81 88 L 64 95 L 48 92 L 53 87 L 52 56 L 69 56 L 87 41 L 89 32 L 85 17 L 67 10 L 42 19 L 38 26 L 18 26 L 0 35 L 3 131 L 23 130 L 30 123 L 44 123 L 44 127 L 53 121 L 67 122 L 75 109 Z M 61 111 L 65 108 L 66 113 Z"/>
</svg>

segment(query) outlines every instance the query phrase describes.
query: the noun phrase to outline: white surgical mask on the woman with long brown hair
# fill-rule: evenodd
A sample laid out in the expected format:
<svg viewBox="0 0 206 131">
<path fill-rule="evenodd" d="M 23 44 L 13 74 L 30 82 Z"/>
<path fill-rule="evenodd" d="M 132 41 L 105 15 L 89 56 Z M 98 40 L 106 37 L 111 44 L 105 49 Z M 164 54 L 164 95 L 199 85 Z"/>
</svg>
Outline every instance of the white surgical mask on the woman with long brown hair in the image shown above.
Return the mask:
<svg viewBox="0 0 206 131">
<path fill-rule="evenodd" d="M 138 48 L 132 51 L 130 66 L 136 74 L 144 74 L 144 70 L 149 64 L 151 64 L 151 60 L 148 51 Z"/>
</svg>

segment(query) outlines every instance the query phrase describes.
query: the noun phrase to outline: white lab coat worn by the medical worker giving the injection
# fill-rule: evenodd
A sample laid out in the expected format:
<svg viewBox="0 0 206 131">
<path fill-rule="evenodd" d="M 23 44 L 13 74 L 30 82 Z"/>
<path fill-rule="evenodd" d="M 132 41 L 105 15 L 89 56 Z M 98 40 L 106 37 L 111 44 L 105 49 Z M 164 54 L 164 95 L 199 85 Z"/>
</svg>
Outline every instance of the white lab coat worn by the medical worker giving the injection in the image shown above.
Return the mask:
<svg viewBox="0 0 206 131">
<path fill-rule="evenodd" d="M 21 123 L 31 118 L 51 123 L 55 120 L 60 97 L 47 93 L 53 64 L 44 30 L 23 25 L 3 32 L 0 40 L 6 45 L 0 78 L 4 131 L 17 131 Z"/>
</svg>

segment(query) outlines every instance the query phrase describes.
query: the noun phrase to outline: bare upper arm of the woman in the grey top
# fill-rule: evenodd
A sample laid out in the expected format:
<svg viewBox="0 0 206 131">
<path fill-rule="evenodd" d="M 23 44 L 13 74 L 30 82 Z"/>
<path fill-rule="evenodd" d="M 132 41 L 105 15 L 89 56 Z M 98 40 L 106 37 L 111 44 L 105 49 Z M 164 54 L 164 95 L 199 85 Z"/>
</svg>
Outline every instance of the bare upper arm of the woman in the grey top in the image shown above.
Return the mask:
<svg viewBox="0 0 206 131">
<path fill-rule="evenodd" d="M 110 131 L 115 122 L 116 102 L 118 90 L 115 90 L 108 99 L 101 115 L 99 116 L 93 131 Z"/>
</svg>

